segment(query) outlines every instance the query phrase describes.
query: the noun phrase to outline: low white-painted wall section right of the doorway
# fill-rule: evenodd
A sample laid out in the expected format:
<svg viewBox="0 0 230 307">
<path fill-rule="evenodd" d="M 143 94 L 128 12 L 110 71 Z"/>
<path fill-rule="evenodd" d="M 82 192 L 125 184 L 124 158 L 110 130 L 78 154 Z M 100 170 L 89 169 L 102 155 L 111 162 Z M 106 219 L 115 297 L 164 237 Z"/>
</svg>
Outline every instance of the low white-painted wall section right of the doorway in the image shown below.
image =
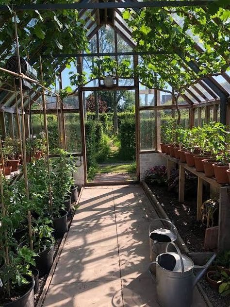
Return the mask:
<svg viewBox="0 0 230 307">
<path fill-rule="evenodd" d="M 140 153 L 140 180 L 143 181 L 145 171 L 156 165 L 166 166 L 166 159 L 158 153 Z"/>
</svg>

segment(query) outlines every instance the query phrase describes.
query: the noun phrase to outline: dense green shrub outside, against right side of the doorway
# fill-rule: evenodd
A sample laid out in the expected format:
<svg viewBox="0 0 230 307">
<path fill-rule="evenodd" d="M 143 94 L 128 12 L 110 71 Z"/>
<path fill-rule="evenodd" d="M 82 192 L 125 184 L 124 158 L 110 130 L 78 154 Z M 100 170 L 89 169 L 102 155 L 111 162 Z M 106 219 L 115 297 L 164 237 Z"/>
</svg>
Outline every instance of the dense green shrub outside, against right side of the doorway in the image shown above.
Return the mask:
<svg viewBox="0 0 230 307">
<path fill-rule="evenodd" d="M 119 128 L 120 157 L 125 160 L 134 160 L 136 155 L 135 120 L 124 119 Z"/>
</svg>

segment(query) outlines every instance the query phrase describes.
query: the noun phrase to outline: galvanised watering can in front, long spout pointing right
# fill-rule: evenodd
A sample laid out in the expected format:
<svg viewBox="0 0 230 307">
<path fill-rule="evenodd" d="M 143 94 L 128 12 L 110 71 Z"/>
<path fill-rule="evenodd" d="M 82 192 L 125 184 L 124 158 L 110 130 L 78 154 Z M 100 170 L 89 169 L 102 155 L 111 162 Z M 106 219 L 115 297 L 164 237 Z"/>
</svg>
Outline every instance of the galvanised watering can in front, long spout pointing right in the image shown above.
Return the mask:
<svg viewBox="0 0 230 307">
<path fill-rule="evenodd" d="M 177 251 L 168 252 L 173 245 Z M 157 301 L 161 307 L 190 307 L 193 302 L 193 288 L 211 265 L 216 254 L 204 266 L 195 266 L 193 260 L 182 255 L 175 243 L 169 242 L 166 252 L 157 256 L 156 284 Z M 202 269 L 196 276 L 193 269 Z M 151 273 L 151 271 L 150 271 Z"/>
</svg>

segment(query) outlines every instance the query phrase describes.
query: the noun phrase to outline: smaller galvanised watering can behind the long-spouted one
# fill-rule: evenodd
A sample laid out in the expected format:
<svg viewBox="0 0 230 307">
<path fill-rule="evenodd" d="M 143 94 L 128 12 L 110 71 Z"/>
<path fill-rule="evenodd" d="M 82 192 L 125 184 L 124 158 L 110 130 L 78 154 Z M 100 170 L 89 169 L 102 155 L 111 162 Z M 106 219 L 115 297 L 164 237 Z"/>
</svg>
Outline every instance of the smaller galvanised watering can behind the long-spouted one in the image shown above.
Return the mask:
<svg viewBox="0 0 230 307">
<path fill-rule="evenodd" d="M 151 262 L 156 261 L 159 254 L 165 253 L 168 242 L 175 242 L 178 238 L 176 226 L 165 219 L 153 220 L 149 225 L 148 232 Z M 151 272 L 156 275 L 155 266 L 152 266 Z"/>
</svg>

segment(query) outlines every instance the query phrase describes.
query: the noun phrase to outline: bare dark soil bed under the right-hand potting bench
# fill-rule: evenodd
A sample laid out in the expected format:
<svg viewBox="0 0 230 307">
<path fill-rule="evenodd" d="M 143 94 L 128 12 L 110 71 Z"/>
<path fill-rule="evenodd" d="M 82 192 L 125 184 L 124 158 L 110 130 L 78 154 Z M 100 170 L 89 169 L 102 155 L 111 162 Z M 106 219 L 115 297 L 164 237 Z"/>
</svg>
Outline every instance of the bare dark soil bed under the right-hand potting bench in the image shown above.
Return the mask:
<svg viewBox="0 0 230 307">
<path fill-rule="evenodd" d="M 197 221 L 196 198 L 190 198 L 183 203 L 179 203 L 178 194 L 168 192 L 167 187 L 149 186 L 149 188 L 163 206 L 171 222 L 177 227 L 188 249 L 191 252 L 204 251 L 205 226 Z"/>
</svg>

